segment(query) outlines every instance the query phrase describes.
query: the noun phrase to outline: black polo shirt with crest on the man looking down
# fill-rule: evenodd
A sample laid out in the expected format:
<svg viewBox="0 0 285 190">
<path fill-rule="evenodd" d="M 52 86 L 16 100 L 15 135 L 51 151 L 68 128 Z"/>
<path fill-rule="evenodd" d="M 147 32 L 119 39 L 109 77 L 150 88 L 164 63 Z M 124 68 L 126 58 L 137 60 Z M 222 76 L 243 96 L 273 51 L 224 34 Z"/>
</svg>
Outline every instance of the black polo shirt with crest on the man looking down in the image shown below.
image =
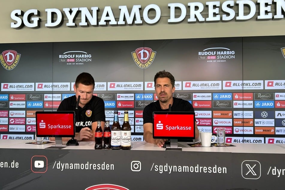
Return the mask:
<svg viewBox="0 0 285 190">
<path fill-rule="evenodd" d="M 75 111 L 75 132 L 80 132 L 84 127 L 92 129 L 92 123 L 98 120 L 105 122 L 105 105 L 102 98 L 94 96 L 83 107 L 76 107 L 76 96 L 62 100 L 57 111 Z"/>
</svg>

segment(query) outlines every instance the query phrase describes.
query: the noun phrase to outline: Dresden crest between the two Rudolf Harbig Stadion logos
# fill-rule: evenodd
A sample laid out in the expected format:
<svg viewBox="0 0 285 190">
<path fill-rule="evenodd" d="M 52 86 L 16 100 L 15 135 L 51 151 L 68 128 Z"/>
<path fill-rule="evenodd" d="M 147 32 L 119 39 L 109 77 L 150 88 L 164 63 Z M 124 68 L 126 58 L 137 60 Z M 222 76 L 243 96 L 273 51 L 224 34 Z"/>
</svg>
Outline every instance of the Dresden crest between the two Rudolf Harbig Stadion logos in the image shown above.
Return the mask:
<svg viewBox="0 0 285 190">
<path fill-rule="evenodd" d="M 156 52 L 148 47 L 140 47 L 132 52 L 132 58 L 138 67 L 142 69 L 145 69 L 152 64 L 155 55 Z"/>
</svg>

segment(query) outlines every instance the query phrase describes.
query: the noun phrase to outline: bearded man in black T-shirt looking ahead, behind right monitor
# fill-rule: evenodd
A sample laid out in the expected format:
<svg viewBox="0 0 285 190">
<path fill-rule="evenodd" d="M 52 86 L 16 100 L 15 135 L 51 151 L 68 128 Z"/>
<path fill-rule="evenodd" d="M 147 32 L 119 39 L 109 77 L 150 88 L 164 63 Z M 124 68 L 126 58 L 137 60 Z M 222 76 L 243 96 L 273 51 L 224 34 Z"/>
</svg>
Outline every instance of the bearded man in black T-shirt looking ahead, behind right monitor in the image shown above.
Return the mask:
<svg viewBox="0 0 285 190">
<path fill-rule="evenodd" d="M 168 111 L 169 104 L 171 104 L 171 111 L 194 111 L 190 102 L 173 97 L 175 91 L 174 76 L 163 70 L 156 73 L 154 76 L 154 86 L 158 101 L 152 102 L 144 108 L 144 140 L 157 144 L 163 147 L 167 139 L 154 139 L 153 138 L 153 111 Z M 199 130 L 195 122 L 195 137 L 199 138 Z"/>
</svg>

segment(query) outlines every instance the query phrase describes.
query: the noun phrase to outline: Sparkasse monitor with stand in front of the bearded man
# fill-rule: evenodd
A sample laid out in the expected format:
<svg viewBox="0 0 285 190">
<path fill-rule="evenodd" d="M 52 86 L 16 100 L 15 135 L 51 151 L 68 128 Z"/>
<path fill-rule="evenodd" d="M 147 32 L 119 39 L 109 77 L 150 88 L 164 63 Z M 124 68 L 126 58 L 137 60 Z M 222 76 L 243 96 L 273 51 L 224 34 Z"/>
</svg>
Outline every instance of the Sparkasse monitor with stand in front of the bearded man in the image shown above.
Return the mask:
<svg viewBox="0 0 285 190">
<path fill-rule="evenodd" d="M 178 139 L 195 139 L 195 112 L 154 111 L 153 138 L 170 139 L 166 150 L 182 150 Z"/>
</svg>

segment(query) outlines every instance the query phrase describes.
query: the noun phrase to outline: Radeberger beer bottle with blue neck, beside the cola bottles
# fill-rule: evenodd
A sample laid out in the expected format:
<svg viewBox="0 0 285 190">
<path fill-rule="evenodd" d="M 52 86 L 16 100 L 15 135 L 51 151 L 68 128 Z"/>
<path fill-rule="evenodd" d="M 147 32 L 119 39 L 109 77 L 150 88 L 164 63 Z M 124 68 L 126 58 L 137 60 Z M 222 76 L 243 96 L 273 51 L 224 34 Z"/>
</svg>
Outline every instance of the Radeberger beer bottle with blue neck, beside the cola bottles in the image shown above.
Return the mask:
<svg viewBox="0 0 285 190">
<path fill-rule="evenodd" d="M 111 149 L 121 149 L 121 126 L 119 123 L 118 111 L 114 112 L 114 122 L 111 128 Z"/>
</svg>

